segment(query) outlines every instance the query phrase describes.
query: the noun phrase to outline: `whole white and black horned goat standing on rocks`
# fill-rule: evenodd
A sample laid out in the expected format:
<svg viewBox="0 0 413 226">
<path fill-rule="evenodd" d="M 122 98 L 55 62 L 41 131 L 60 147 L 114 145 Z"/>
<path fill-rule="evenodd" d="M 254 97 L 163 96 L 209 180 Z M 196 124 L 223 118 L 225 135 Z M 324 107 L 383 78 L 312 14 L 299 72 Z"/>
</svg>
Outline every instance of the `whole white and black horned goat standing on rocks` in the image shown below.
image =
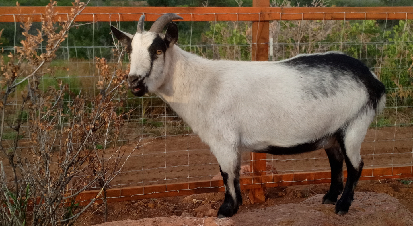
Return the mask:
<svg viewBox="0 0 413 226">
<path fill-rule="evenodd" d="M 242 151 L 291 155 L 324 148 L 332 179 L 323 203 L 348 212 L 363 168 L 361 143 L 385 107 L 385 86 L 375 74 L 339 52 L 278 62 L 204 59 L 174 45 L 178 27 L 170 22 L 178 15 L 162 15 L 148 32 L 144 19 L 135 35 L 111 27 L 131 57 L 132 93 L 159 95 L 209 145 L 225 184 L 218 217 L 232 216 L 242 204 Z"/>
</svg>

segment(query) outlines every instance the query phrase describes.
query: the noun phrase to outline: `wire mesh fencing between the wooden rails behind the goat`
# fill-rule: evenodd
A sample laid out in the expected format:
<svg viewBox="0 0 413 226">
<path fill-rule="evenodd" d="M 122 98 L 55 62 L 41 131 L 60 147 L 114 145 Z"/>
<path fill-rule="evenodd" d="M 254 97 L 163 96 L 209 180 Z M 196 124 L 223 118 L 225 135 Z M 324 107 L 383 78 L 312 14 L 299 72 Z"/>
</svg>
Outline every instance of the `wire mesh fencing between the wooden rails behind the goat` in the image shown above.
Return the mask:
<svg viewBox="0 0 413 226">
<path fill-rule="evenodd" d="M 307 20 L 306 17 L 314 15 L 309 12 L 273 13 L 272 17 L 281 19 L 285 16 L 297 15 L 301 19 L 269 21 L 268 43 L 259 44 L 268 44 L 270 61 L 287 59 L 298 54 L 341 51 L 365 63 L 385 84 L 387 107 L 382 114 L 377 115 L 362 144 L 364 168 L 389 170 L 381 171 L 380 175 L 374 173 L 374 170 L 365 171 L 363 176 L 368 177 L 370 173 L 372 177 L 395 176 L 393 169 L 397 167 L 403 167 L 397 169 L 404 170 L 402 171 L 404 173 L 399 176 L 410 175 L 413 166 L 411 127 L 413 124 L 413 19 L 408 18 L 411 18 L 413 13 L 401 12 L 406 15 L 405 19 L 389 19 L 388 13 L 380 12 L 380 17 L 385 15 L 384 19 L 367 19 L 368 14 L 374 14 L 374 8 L 371 8 L 369 12 L 358 12 L 365 15 L 365 19 L 358 20 L 346 18 L 346 13 L 348 15 L 350 11 L 336 12 L 336 14 L 344 14 L 342 20 L 330 20 L 326 14 L 321 14 L 323 17 L 319 20 Z M 107 15 L 107 13 L 103 14 Z M 252 51 L 256 44 L 252 40 L 257 32 L 252 29 L 252 21 L 242 19 L 244 14 L 248 15 L 248 13 L 233 13 L 232 16 L 236 19 L 231 21 L 218 19 L 221 14 L 190 13 L 190 20 L 178 21 L 180 29 L 178 46 L 209 59 L 251 60 L 252 54 L 256 54 Z M 79 24 L 78 29 L 69 31 L 69 37 L 62 44 L 57 59 L 52 62 L 52 66 L 56 69 L 55 74 L 43 76 L 41 84 L 44 89 L 48 86 L 56 86 L 57 79 L 61 79 L 63 83 L 69 85 L 73 93 L 98 94 L 99 91 L 95 86 L 98 76 L 95 57 L 114 60 L 112 50 L 121 48 L 120 45 L 114 44 L 116 42 L 109 33 L 109 25 L 116 24 L 121 30 L 129 33 L 134 33 L 137 25 L 133 21 L 119 20 L 131 16 L 130 13 L 109 14 L 109 18 L 112 17 L 109 19 L 112 20 L 111 22 L 95 20 L 99 18 L 98 15 L 99 12 L 94 12 L 94 20 L 85 20 L 87 22 Z M 185 15 L 188 17 L 188 14 Z M 0 15 L 0 21 L 2 16 L 9 15 Z M 204 17 L 205 20 L 212 16 L 215 20 L 194 19 Z M 113 19 L 114 17 L 119 19 Z M 258 18 L 261 18 L 260 14 Z M 145 27 L 150 25 L 151 22 L 146 22 Z M 21 31 L 18 22 L 1 22 L 0 28 L 9 31 L 7 36 L 9 38 L 3 41 L 3 48 L 5 52 L 12 52 L 13 45 L 19 45 Z M 124 62 L 126 67 L 128 57 L 125 57 Z M 20 88 L 24 86 L 23 83 Z M 14 98 L 13 105 L 17 112 L 20 100 L 18 95 Z M 71 100 L 68 98 L 65 101 Z M 133 110 L 133 112 L 124 128 L 122 139 L 118 140 L 116 145 L 128 153 L 139 142 L 139 149 L 133 152 L 122 173 L 112 181 L 110 188 L 142 186 L 140 187 L 142 190 L 138 193 L 144 195 L 200 187 L 223 189 L 222 183 L 216 182 L 221 178 L 219 165 L 215 157 L 210 154 L 209 147 L 202 143 L 191 128 L 163 100 L 155 95 L 141 98 L 129 95 L 124 110 Z M 10 114 L 7 120 L 9 125 L 13 125 L 15 116 Z M 13 139 L 15 134 L 11 128 L 5 129 L 9 131 L 5 135 L 8 136 L 5 138 L 7 142 L 7 139 Z M 22 150 L 24 148 L 21 147 Z M 316 175 L 320 171 L 330 170 L 324 150 L 299 155 L 267 155 L 265 162 L 266 169 L 263 171 L 269 175 L 266 181 L 270 183 L 288 185 L 304 180 L 321 183 L 330 178 L 330 175 L 325 173 L 304 179 L 298 176 L 291 177 L 299 173 Z M 250 178 L 241 180 L 244 188 L 252 188 L 256 183 L 251 179 L 253 174 L 249 165 L 250 155 L 244 153 L 241 176 Z M 274 175 L 277 174 L 280 176 L 275 177 Z M 196 184 L 199 181 L 202 181 L 202 186 Z M 177 184 L 180 186 L 169 187 Z M 152 190 L 145 190 L 145 187 L 150 186 Z M 96 188 L 99 189 L 99 186 Z M 213 190 L 202 190 L 205 191 Z M 121 192 L 116 194 L 116 192 L 118 190 L 108 197 L 119 198 L 132 194 Z"/>
</svg>

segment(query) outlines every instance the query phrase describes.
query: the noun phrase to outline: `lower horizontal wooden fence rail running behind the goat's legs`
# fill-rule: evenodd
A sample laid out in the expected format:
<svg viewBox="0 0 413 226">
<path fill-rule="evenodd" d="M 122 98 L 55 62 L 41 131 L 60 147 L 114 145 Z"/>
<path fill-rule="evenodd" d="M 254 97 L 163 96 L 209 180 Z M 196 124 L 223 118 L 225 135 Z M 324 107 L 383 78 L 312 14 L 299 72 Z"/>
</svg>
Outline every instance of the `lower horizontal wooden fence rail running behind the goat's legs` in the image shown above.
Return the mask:
<svg viewBox="0 0 413 226">
<path fill-rule="evenodd" d="M 344 171 L 344 177 L 347 171 Z M 413 176 L 412 167 L 389 167 L 363 169 L 360 180 L 373 180 L 385 178 L 400 178 Z M 291 185 L 304 185 L 316 183 L 330 183 L 330 171 L 313 171 L 288 174 L 268 174 L 262 176 L 261 183 L 252 183 L 252 176 L 240 179 L 241 189 L 256 189 L 262 187 L 279 187 Z M 122 202 L 147 198 L 171 197 L 180 195 L 193 195 L 224 191 L 222 180 L 194 181 L 185 183 L 171 183 L 161 185 L 136 186 L 126 188 L 112 188 L 107 190 L 108 202 Z M 76 201 L 85 205 L 92 200 L 99 190 L 85 191 L 78 195 Z M 97 200 L 102 203 L 102 199 Z"/>
</svg>

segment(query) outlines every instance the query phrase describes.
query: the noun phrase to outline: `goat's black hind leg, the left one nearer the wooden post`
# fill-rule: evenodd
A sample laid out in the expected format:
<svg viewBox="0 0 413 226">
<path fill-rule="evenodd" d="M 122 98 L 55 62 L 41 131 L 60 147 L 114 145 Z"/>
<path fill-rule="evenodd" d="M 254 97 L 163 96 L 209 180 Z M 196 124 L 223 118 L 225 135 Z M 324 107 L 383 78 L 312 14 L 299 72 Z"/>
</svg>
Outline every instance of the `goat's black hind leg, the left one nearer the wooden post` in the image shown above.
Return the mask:
<svg viewBox="0 0 413 226">
<path fill-rule="evenodd" d="M 323 197 L 323 204 L 335 204 L 337 197 L 343 192 L 343 161 L 344 156 L 339 145 L 325 149 L 330 162 L 330 190 Z"/>
</svg>

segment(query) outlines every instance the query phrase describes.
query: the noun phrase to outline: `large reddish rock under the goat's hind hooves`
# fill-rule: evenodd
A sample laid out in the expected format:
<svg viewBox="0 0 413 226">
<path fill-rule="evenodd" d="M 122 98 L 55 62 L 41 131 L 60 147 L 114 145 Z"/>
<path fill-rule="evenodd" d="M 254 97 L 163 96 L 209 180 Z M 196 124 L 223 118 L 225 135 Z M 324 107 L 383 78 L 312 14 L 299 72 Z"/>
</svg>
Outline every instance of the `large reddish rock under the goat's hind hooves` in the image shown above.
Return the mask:
<svg viewBox="0 0 413 226">
<path fill-rule="evenodd" d="M 356 192 L 349 212 L 334 213 L 334 205 L 321 204 L 323 194 L 298 204 L 250 210 L 231 217 L 237 226 L 412 226 L 413 214 L 394 197 Z"/>
</svg>

